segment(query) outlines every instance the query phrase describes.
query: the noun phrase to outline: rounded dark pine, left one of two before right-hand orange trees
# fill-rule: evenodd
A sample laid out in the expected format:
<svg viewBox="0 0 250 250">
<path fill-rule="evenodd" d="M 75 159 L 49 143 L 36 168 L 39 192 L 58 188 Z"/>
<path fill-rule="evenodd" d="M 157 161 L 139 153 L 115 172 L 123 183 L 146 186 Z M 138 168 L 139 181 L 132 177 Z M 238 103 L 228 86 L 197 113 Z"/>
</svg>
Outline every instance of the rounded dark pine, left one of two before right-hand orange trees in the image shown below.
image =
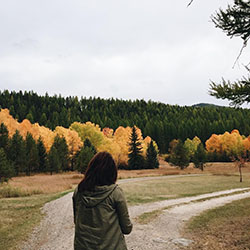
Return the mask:
<svg viewBox="0 0 250 250">
<path fill-rule="evenodd" d="M 177 140 L 177 143 L 172 148 L 169 162 L 180 167 L 180 169 L 184 169 L 189 165 L 188 150 L 181 140 Z"/>
</svg>

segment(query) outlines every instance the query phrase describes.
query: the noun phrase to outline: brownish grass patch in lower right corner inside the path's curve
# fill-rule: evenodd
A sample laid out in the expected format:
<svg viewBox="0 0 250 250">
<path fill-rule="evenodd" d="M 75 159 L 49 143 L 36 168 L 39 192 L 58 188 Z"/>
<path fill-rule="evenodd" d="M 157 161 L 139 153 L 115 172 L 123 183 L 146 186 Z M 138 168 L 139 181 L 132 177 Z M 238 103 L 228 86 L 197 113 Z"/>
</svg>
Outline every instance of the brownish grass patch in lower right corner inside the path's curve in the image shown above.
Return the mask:
<svg viewBox="0 0 250 250">
<path fill-rule="evenodd" d="M 250 199 L 234 201 L 194 217 L 186 226 L 190 249 L 250 249 Z"/>
</svg>

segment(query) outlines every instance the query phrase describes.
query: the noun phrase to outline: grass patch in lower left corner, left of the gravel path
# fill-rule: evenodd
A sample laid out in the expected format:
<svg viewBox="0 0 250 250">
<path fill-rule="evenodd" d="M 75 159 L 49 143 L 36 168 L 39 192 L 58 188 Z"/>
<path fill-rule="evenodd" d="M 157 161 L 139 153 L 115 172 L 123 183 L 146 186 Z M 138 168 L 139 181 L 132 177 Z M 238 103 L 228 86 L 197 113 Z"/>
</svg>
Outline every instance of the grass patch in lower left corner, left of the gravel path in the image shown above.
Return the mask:
<svg viewBox="0 0 250 250">
<path fill-rule="evenodd" d="M 40 208 L 66 193 L 0 199 L 0 249 L 16 249 L 41 221 Z"/>
</svg>

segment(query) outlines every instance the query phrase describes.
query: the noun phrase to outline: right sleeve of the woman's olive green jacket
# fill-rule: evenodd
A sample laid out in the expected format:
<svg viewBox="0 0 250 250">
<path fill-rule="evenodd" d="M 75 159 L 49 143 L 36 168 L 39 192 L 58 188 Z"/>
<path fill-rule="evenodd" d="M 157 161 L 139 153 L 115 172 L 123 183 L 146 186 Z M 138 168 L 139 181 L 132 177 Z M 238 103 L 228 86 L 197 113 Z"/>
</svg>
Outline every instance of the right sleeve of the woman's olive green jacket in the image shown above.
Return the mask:
<svg viewBox="0 0 250 250">
<path fill-rule="evenodd" d="M 128 207 L 124 193 L 119 186 L 117 186 L 115 190 L 115 200 L 121 231 L 123 234 L 129 234 L 132 231 L 133 224 L 129 218 Z"/>
</svg>

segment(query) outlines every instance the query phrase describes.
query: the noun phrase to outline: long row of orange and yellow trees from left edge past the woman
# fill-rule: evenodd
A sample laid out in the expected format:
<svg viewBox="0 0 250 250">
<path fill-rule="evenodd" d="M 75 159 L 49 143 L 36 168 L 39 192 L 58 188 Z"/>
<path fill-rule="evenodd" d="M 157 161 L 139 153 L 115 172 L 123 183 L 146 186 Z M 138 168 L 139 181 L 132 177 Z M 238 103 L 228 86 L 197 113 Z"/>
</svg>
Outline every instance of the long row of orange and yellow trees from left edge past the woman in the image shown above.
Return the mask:
<svg viewBox="0 0 250 250">
<path fill-rule="evenodd" d="M 8 109 L 1 109 L 0 123 L 4 123 L 7 127 L 10 137 L 15 134 L 16 130 L 20 132 L 23 138 L 26 138 L 28 133 L 32 135 L 35 141 L 38 141 L 40 137 L 47 152 L 50 151 L 54 138 L 58 135 L 65 138 L 70 157 L 75 155 L 83 147 L 83 142 L 86 139 L 89 139 L 97 151 L 107 151 L 111 153 L 118 164 L 127 164 L 128 161 L 128 143 L 132 131 L 131 127 L 124 128 L 120 126 L 113 131 L 113 129 L 110 128 L 101 129 L 99 125 L 91 122 L 74 122 L 69 128 L 57 126 L 54 131 L 52 131 L 49 128 L 40 126 L 38 123 L 31 124 L 27 119 L 19 123 L 9 114 Z M 143 155 L 145 156 L 147 145 L 151 142 L 151 138 L 147 136 L 143 139 L 139 128 L 136 128 L 136 133 L 142 144 Z M 155 142 L 154 145 L 157 148 Z"/>
</svg>

